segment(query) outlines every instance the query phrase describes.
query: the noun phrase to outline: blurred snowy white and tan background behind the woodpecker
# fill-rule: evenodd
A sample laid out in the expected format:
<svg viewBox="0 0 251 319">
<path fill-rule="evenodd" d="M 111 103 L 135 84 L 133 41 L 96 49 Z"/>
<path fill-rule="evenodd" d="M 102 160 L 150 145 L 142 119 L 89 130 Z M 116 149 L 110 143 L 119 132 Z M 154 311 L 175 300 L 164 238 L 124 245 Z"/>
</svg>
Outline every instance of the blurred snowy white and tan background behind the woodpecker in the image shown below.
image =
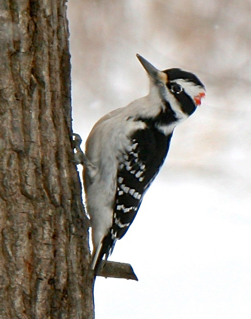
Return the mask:
<svg viewBox="0 0 251 319">
<path fill-rule="evenodd" d="M 97 278 L 96 319 L 249 319 L 251 314 L 251 2 L 70 0 L 73 129 L 148 91 L 139 53 L 195 73 L 201 107 L 110 260 L 139 281 Z"/>
</svg>

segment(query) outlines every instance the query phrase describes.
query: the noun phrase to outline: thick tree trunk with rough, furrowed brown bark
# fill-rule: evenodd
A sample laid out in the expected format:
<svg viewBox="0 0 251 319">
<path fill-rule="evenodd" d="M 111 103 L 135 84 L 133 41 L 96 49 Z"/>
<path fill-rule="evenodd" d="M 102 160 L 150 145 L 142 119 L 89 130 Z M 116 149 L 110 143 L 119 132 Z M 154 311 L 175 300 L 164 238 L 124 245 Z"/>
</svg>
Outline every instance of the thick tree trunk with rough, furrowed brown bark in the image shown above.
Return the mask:
<svg viewBox="0 0 251 319">
<path fill-rule="evenodd" d="M 0 1 L 0 319 L 92 318 L 64 0 Z"/>
</svg>

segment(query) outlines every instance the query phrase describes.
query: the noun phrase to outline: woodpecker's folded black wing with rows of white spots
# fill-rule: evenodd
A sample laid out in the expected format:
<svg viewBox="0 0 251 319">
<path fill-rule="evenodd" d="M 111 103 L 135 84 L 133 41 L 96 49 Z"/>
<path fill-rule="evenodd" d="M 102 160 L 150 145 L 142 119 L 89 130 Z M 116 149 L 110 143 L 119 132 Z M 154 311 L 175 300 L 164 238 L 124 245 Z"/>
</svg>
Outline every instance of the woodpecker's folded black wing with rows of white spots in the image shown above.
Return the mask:
<svg viewBox="0 0 251 319">
<path fill-rule="evenodd" d="M 109 237 L 106 255 L 111 253 L 115 241 L 126 233 L 135 218 L 145 191 L 163 164 L 170 138 L 171 134 L 165 136 L 152 128 L 138 130 L 132 135 L 117 170 L 113 223 L 106 236 Z"/>
</svg>

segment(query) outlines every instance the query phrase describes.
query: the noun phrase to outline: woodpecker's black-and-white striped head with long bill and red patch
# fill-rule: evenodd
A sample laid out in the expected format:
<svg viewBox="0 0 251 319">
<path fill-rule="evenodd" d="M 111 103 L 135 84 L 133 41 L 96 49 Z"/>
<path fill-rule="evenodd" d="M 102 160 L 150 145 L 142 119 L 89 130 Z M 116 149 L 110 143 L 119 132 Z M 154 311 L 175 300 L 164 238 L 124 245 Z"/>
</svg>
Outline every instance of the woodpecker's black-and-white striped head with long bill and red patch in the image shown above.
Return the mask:
<svg viewBox="0 0 251 319">
<path fill-rule="evenodd" d="M 194 74 L 177 68 L 160 71 L 140 55 L 136 57 L 147 72 L 151 87 L 158 89 L 160 99 L 177 115 L 187 117 L 201 104 L 205 88 Z"/>
</svg>

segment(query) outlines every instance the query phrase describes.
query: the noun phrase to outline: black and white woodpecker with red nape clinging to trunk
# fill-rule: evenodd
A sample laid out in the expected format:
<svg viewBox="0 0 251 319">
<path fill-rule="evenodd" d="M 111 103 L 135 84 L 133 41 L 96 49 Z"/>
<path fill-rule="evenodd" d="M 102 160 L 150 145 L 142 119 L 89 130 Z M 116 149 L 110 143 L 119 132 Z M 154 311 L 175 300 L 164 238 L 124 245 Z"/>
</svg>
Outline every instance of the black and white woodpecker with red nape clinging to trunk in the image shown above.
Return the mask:
<svg viewBox="0 0 251 319">
<path fill-rule="evenodd" d="M 135 218 L 164 162 L 174 127 L 205 97 L 194 74 L 178 68 L 160 71 L 136 57 L 148 74 L 149 93 L 104 115 L 93 126 L 81 161 L 95 273 Z"/>
</svg>

